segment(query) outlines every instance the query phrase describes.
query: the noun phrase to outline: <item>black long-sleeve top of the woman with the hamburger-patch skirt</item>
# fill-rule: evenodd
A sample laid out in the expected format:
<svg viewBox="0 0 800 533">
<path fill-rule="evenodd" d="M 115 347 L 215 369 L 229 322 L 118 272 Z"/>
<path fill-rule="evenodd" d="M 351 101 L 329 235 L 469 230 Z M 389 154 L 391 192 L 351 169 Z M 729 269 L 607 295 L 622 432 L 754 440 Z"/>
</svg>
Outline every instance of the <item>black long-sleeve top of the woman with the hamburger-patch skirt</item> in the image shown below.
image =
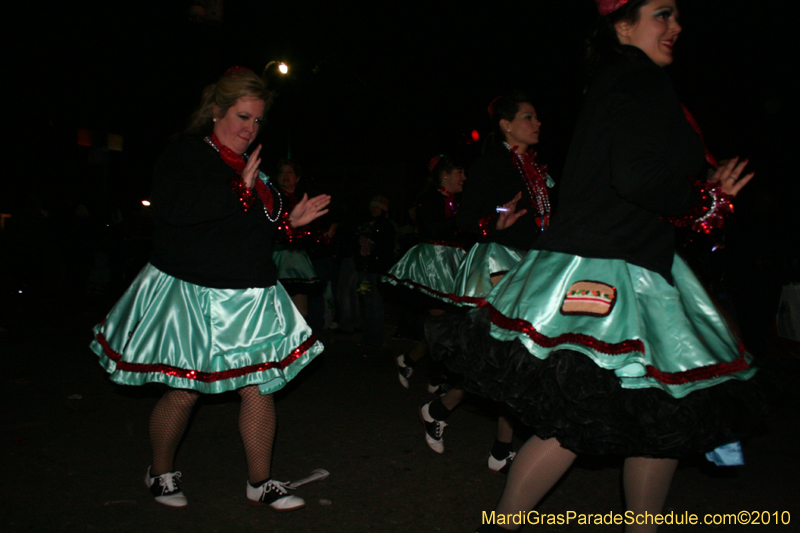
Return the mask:
<svg viewBox="0 0 800 533">
<path fill-rule="evenodd" d="M 671 282 L 673 226 L 700 198 L 702 141 L 664 69 L 641 50 L 589 88 L 567 154 L 558 212 L 535 247 L 623 259 Z"/>
</svg>

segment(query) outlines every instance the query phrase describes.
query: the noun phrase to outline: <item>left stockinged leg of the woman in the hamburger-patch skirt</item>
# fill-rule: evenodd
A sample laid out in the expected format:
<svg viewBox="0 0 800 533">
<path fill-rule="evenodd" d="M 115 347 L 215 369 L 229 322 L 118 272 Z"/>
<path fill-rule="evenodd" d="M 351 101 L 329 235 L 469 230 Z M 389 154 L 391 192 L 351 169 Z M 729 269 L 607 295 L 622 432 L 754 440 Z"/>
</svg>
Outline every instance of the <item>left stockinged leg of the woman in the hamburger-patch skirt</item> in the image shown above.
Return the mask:
<svg viewBox="0 0 800 533">
<path fill-rule="evenodd" d="M 536 507 L 569 469 L 575 457 L 556 439 L 529 439 L 517 452 L 503 496 L 497 504 L 497 513 L 527 513 Z"/>
</svg>

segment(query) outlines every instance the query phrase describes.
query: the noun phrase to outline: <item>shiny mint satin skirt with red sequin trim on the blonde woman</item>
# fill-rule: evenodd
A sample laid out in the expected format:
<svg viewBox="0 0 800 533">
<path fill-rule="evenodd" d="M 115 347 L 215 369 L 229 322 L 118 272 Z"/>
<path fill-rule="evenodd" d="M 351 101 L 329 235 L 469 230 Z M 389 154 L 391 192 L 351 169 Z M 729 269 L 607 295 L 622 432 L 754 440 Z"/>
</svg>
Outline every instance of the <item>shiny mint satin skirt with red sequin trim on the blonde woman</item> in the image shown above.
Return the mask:
<svg viewBox="0 0 800 533">
<path fill-rule="evenodd" d="M 280 284 L 212 289 L 149 264 L 94 334 L 112 381 L 212 394 L 275 392 L 323 349 Z"/>
</svg>

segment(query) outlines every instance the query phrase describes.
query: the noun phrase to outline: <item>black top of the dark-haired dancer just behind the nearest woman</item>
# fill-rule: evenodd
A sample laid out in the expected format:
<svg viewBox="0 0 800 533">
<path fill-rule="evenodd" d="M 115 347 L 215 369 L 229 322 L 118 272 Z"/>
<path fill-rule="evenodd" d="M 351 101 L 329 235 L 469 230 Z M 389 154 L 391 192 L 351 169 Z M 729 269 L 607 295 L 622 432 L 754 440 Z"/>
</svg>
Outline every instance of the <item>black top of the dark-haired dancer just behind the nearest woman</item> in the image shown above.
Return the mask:
<svg viewBox="0 0 800 533">
<path fill-rule="evenodd" d="M 479 242 L 497 242 L 528 250 L 542 231 L 536 225 L 536 203 L 512 157 L 505 146 L 495 145 L 473 163 L 464 183 L 458 225 L 463 231 L 476 234 Z M 528 212 L 511 227 L 496 230 L 497 207 L 513 200 L 518 192 L 522 192 L 522 198 L 517 210 L 527 209 Z M 492 217 L 488 225 L 481 226 L 480 221 L 487 217 Z"/>
</svg>

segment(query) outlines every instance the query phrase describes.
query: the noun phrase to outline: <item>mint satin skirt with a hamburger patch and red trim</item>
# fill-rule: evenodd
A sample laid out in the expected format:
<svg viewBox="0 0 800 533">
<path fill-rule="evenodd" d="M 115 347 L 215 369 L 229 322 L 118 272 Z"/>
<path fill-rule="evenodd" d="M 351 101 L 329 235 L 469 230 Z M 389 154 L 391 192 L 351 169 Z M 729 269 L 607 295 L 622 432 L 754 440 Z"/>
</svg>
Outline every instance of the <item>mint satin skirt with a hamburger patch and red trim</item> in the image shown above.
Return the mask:
<svg viewBox="0 0 800 533">
<path fill-rule="evenodd" d="M 752 377 L 752 357 L 677 255 L 672 276 L 674 286 L 623 260 L 532 250 L 486 298 L 491 335 L 539 359 L 583 353 L 624 388 L 676 398 Z"/>
</svg>

